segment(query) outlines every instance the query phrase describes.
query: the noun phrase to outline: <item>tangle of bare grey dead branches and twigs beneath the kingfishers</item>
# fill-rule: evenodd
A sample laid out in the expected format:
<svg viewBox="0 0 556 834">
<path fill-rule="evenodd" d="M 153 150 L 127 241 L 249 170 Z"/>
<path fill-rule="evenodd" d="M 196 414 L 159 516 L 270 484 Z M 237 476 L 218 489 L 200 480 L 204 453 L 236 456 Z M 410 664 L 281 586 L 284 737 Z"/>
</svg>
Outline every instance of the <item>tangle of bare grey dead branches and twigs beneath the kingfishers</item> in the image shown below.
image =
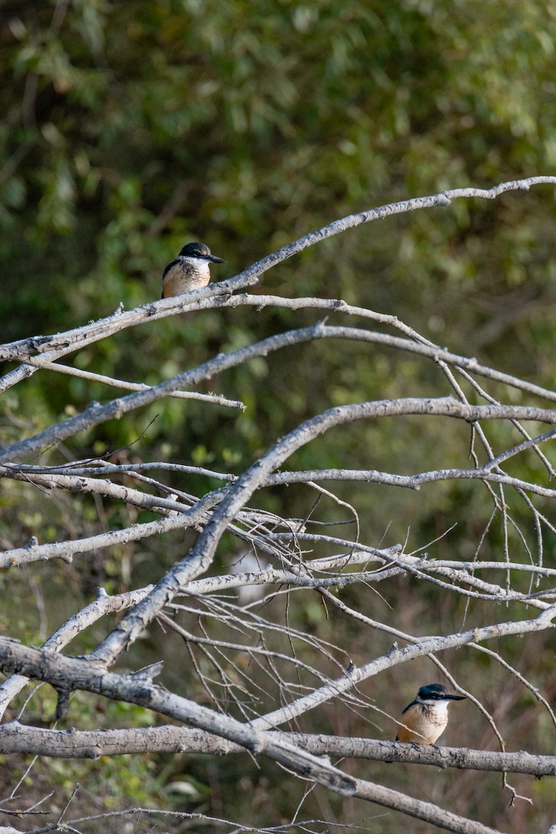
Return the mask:
<svg viewBox="0 0 556 834">
<path fill-rule="evenodd" d="M 503 665 L 509 673 L 518 675 L 504 660 L 499 649 L 491 651 L 488 644 L 496 641 L 499 647 L 504 645 L 504 637 L 532 635 L 552 628 L 554 624 L 556 570 L 544 565 L 543 553 L 544 540 L 547 535 L 556 533 L 556 527 L 534 501 L 537 498 L 554 500 L 556 497 L 556 490 L 550 485 L 554 468 L 546 452 L 549 440 L 556 435 L 556 409 L 551 407 L 556 400 L 556 392 L 485 367 L 473 358 L 450 353 L 393 316 L 351 307 L 340 300 L 279 299 L 237 292 L 255 284 L 267 269 L 286 258 L 356 225 L 419 208 L 448 206 L 454 198 L 495 198 L 511 189 L 526 190 L 538 183 L 556 184 L 556 178 L 503 183 L 489 191 L 464 188 L 373 209 L 306 235 L 220 284 L 212 284 L 179 298 L 146 304 L 127 313 L 118 309 L 107 319 L 64 334 L 37 336 L 0 346 L 0 359 L 20 363 L 0 379 L 2 392 L 14 384 L 21 384 L 37 372 L 75 374 L 86 381 L 101 381 L 107 386 L 132 390 L 130 394 L 107 399 L 102 404 L 92 403 L 80 414 L 3 447 L 0 450 L 0 475 L 5 479 L 23 481 L 37 490 L 73 495 L 88 493 L 138 509 L 148 509 L 157 516 L 154 521 L 94 535 L 84 532 L 73 540 L 55 543 L 42 543 L 37 531 L 37 535 L 26 545 L 13 546 L 0 553 L 2 567 L 21 567 L 52 559 L 71 561 L 88 551 L 109 549 L 130 542 L 140 543 L 171 530 L 198 532 L 194 545 L 164 575 L 155 577 L 155 585 L 118 596 L 109 596 L 101 590 L 97 600 L 72 616 L 42 649 L 23 646 L 8 638 L 0 639 L 0 668 L 9 675 L 0 686 L 2 716 L 6 715 L 17 693 L 28 685 L 29 679 L 33 679 L 47 681 L 55 687 L 59 715 L 64 713 L 70 693 L 82 690 L 143 706 L 159 716 L 176 721 L 177 726 L 102 732 L 78 731 L 76 728 L 68 732 L 25 726 L 25 713 L 22 711 L 17 720 L 0 726 L 0 751 L 94 758 L 134 751 L 182 750 L 222 755 L 247 750 L 256 756 L 268 756 L 289 771 L 340 795 L 360 797 L 403 811 L 434 826 L 465 834 L 484 834 L 494 829 L 387 786 L 347 775 L 323 756 L 364 756 L 381 761 L 421 762 L 504 773 L 516 771 L 535 776 L 556 774 L 556 757 L 506 753 L 494 718 L 471 692 L 465 694 L 483 711 L 499 738 L 502 751 L 414 749 L 386 741 L 340 739 L 335 736 L 323 739 L 323 736 L 276 731 L 276 728 L 336 699 L 356 713 L 376 709 L 379 705 L 359 690 L 361 681 L 418 657 L 433 658 L 439 668 L 448 674 L 444 666 L 440 666 L 437 655 L 440 651 L 457 647 L 488 651 L 493 661 Z M 196 368 L 186 369 L 152 386 L 83 372 L 58 361 L 85 345 L 110 338 L 122 329 L 139 326 L 146 321 L 183 312 L 242 305 L 332 311 L 335 315 L 357 316 L 362 324 L 352 328 L 346 324 L 317 322 L 310 327 L 282 332 L 229 354 L 218 354 Z M 373 329 L 375 324 L 394 332 L 378 332 Z M 255 357 L 320 339 L 373 344 L 377 350 L 403 352 L 413 355 L 415 361 L 433 363 L 452 393 L 440 398 L 382 399 L 330 408 L 277 439 L 239 476 L 166 460 L 133 465 L 115 465 L 98 459 L 59 465 L 25 462 L 32 455 L 75 437 L 77 432 L 90 430 L 107 420 L 122 420 L 126 414 L 167 396 L 203 399 L 207 408 L 241 407 L 239 400 L 199 394 L 194 390 L 195 386 L 215 374 L 245 365 Z M 506 390 L 520 392 L 522 398 L 534 396 L 541 404 L 499 402 L 489 393 L 488 386 L 494 384 L 497 391 L 505 386 Z M 474 401 L 470 401 L 471 395 Z M 459 420 L 468 425 L 472 436 L 469 467 L 426 470 L 412 475 L 353 469 L 280 471 L 296 450 L 332 429 L 363 420 L 396 420 L 408 414 L 417 415 L 423 421 L 423 433 L 427 431 L 429 418 L 432 417 L 436 420 Z M 489 425 L 493 421 L 509 421 L 520 438 L 501 454 L 494 453 L 489 440 Z M 522 421 L 534 424 L 533 435 L 530 428 L 524 429 Z M 537 424 L 550 428 L 538 433 Z M 509 461 L 519 459 L 519 455 L 529 450 L 533 450 L 544 466 L 546 475 L 543 482 L 514 477 L 507 469 Z M 153 476 L 154 472 L 156 476 Z M 185 491 L 177 493 L 165 483 L 168 473 L 179 473 L 184 484 L 192 475 L 208 475 L 220 481 L 221 486 L 204 495 Z M 125 485 L 122 478 L 126 480 Z M 419 490 L 440 480 L 480 481 L 477 489 L 486 490 L 493 515 L 500 518 L 504 530 L 500 560 L 481 559 L 479 548 L 474 560 L 462 562 L 431 560 L 426 554 L 407 553 L 401 545 L 380 547 L 365 544 L 360 540 L 356 507 L 346 505 L 330 491 L 330 483 L 339 481 L 360 481 L 362 490 L 365 483 Z M 324 482 L 329 482 L 326 489 Z M 130 486 L 130 483 L 135 483 L 135 486 Z M 330 535 L 329 532 L 322 534 L 310 518 L 282 518 L 251 506 L 253 497 L 260 490 L 292 484 L 304 484 L 306 489 L 314 490 L 316 496 L 325 496 L 326 500 L 347 510 L 354 521 L 352 527 L 355 534 L 347 538 Z M 509 550 L 509 530 L 512 525 L 517 529 L 509 510 L 509 490 L 529 512 L 536 531 L 536 553 L 530 550 L 530 559 L 524 562 L 513 558 Z M 78 525 L 78 521 L 76 523 Z M 86 530 L 86 526 L 83 525 L 82 529 Z M 240 562 L 233 570 L 221 575 L 209 575 L 225 533 L 241 542 L 245 552 L 251 554 L 251 561 L 246 563 L 245 569 Z M 519 532 L 519 535 L 522 534 Z M 522 537 L 525 540 L 525 536 Z M 504 570 L 504 584 L 499 580 L 501 568 Z M 524 573 L 530 580 L 526 592 L 519 590 L 521 582 L 516 583 L 516 578 L 520 579 Z M 349 587 L 368 587 L 378 593 L 389 583 L 412 579 L 419 580 L 425 587 L 434 585 L 445 595 L 453 595 L 454 599 L 465 598 L 469 602 L 481 603 L 488 611 L 485 615 L 487 625 L 462 628 L 451 634 L 417 636 L 403 631 L 395 616 L 374 619 L 368 611 L 350 606 L 342 598 L 342 592 Z M 261 589 L 262 601 L 261 595 L 256 593 L 246 596 L 257 588 Z M 237 593 L 240 593 L 239 599 Z M 314 596 L 327 610 L 334 610 L 335 615 L 357 622 L 373 633 L 385 635 L 393 639 L 394 644 L 376 656 L 358 657 L 354 662 L 348 652 L 320 636 L 318 631 L 313 633 L 297 627 L 295 618 L 286 616 L 276 619 L 276 609 L 272 606 L 275 600 L 284 599 L 286 609 L 295 610 L 295 606 L 306 604 L 306 600 Z M 305 602 L 301 603 L 301 600 Z M 499 605 L 500 602 L 504 605 Z M 112 631 L 107 631 L 104 639 L 87 657 L 60 654 L 62 648 L 71 647 L 72 641 L 83 630 L 93 623 L 102 623 L 108 614 L 117 611 L 123 612 L 122 619 Z M 132 674 L 111 671 L 122 658 L 122 653 L 151 626 L 172 631 L 183 641 L 190 674 L 202 686 L 204 702 L 211 706 L 201 706 L 194 700 L 157 686 L 154 681 L 160 671 L 159 666 Z M 256 670 L 256 675 L 253 670 Z M 556 717 L 549 703 L 523 676 L 520 680 L 534 692 L 556 726 Z M 458 690 L 464 691 L 461 686 Z M 385 712 L 385 715 L 388 713 Z M 187 729 L 179 726 L 181 724 L 185 724 Z"/>
</svg>

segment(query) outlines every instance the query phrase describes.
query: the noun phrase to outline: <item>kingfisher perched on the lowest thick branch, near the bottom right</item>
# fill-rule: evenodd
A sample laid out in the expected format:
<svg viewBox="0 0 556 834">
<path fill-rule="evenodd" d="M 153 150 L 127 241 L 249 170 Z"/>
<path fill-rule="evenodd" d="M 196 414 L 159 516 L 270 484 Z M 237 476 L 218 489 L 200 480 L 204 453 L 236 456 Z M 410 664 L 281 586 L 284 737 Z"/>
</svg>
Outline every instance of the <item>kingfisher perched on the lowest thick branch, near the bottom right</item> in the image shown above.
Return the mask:
<svg viewBox="0 0 556 834">
<path fill-rule="evenodd" d="M 434 744 L 448 724 L 449 701 L 464 701 L 464 695 L 449 695 L 441 683 L 421 686 L 415 701 L 402 712 L 396 741 Z"/>
</svg>

